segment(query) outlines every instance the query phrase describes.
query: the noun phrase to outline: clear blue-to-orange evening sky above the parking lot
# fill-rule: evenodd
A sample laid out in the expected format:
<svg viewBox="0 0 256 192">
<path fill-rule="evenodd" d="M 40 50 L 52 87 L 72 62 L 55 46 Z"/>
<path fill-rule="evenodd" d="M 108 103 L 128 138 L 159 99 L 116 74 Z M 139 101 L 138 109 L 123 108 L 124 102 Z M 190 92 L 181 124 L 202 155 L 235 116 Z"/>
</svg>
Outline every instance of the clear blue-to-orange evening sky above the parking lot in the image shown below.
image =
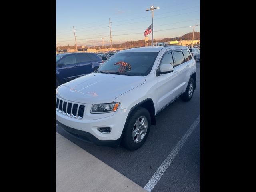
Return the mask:
<svg viewBox="0 0 256 192">
<path fill-rule="evenodd" d="M 56 0 L 56 44 L 100 46 L 144 39 L 154 10 L 153 38 L 163 39 L 200 32 L 200 0 Z M 151 33 L 148 35 L 151 40 Z"/>
</svg>

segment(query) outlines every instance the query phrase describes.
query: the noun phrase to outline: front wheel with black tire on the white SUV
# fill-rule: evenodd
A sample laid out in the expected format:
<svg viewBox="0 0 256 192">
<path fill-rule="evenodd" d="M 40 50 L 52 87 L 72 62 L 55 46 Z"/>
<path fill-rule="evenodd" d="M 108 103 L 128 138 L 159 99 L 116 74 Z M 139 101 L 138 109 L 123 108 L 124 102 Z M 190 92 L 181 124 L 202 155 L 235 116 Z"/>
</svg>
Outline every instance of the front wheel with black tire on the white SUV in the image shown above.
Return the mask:
<svg viewBox="0 0 256 192">
<path fill-rule="evenodd" d="M 138 124 L 136 122 L 138 122 Z M 142 126 L 143 122 L 144 127 Z M 150 131 L 150 124 L 151 117 L 148 110 L 142 107 L 136 108 L 128 119 L 127 125 L 125 127 L 124 136 L 122 138 L 122 145 L 129 150 L 136 150 L 140 148 L 148 137 Z M 140 125 L 141 127 L 136 125 Z M 138 132 L 140 133 L 138 134 Z"/>
</svg>

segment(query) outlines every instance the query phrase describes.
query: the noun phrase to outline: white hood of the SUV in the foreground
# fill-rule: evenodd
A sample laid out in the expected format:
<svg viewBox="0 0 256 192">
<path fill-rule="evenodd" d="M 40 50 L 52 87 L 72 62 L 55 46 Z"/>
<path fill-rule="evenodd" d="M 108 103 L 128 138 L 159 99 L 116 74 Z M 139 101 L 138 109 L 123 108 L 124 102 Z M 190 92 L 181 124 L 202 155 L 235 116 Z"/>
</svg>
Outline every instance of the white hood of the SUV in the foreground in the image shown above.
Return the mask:
<svg viewBox="0 0 256 192">
<path fill-rule="evenodd" d="M 145 82 L 145 77 L 91 73 L 62 84 L 56 96 L 72 102 L 111 103 L 115 98 Z"/>
</svg>

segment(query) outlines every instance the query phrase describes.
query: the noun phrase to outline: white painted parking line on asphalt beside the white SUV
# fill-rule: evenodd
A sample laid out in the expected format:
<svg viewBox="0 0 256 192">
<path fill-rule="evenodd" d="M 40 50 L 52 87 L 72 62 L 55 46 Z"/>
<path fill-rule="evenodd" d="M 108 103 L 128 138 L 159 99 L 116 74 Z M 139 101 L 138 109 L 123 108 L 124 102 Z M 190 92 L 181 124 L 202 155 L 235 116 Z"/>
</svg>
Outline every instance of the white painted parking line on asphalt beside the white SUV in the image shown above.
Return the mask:
<svg viewBox="0 0 256 192">
<path fill-rule="evenodd" d="M 200 123 L 200 115 L 196 118 L 196 120 L 193 122 L 193 124 L 190 126 L 190 128 L 187 130 L 187 132 L 182 136 L 180 141 L 176 144 L 174 149 L 170 152 L 170 154 L 166 157 L 164 162 L 158 167 L 154 175 L 151 177 L 151 179 L 148 181 L 144 189 L 147 191 L 153 190 L 153 188 L 156 186 L 160 178 L 163 176 L 164 172 L 167 170 L 167 168 L 170 166 L 172 161 L 174 160 L 175 156 L 178 154 L 186 140 L 189 138 L 189 136 L 192 134 L 196 126 Z"/>
</svg>

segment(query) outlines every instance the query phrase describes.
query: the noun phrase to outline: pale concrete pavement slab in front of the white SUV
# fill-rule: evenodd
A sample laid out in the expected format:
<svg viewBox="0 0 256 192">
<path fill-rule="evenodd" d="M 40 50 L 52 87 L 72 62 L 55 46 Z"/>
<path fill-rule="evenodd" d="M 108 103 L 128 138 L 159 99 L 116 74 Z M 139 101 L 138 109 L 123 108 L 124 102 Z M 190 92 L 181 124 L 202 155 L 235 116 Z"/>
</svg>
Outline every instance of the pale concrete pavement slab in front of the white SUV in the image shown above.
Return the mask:
<svg viewBox="0 0 256 192">
<path fill-rule="evenodd" d="M 145 192 L 56 132 L 56 192 Z"/>
</svg>

